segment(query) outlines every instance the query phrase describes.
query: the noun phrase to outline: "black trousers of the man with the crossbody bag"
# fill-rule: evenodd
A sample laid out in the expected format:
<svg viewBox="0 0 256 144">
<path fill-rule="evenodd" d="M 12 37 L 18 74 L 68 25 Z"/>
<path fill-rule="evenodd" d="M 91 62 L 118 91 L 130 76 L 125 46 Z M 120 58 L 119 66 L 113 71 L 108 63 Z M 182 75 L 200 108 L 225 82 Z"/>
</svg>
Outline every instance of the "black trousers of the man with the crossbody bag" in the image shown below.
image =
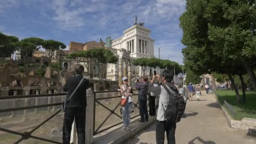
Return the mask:
<svg viewBox="0 0 256 144">
<path fill-rule="evenodd" d="M 67 108 L 64 114 L 62 136 L 63 144 L 69 144 L 70 142 L 74 118 L 77 127 L 78 144 L 85 144 L 85 107 Z"/>
</svg>

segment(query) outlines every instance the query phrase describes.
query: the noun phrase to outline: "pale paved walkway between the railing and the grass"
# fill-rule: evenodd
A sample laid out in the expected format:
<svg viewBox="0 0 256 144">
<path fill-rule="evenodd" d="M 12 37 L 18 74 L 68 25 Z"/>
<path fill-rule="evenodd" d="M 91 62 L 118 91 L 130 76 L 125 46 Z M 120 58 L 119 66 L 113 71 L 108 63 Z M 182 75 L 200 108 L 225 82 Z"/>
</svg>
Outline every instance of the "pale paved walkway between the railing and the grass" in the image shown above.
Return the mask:
<svg viewBox="0 0 256 144">
<path fill-rule="evenodd" d="M 246 135 L 248 131 L 229 127 L 212 94 L 202 94 L 202 101 L 196 101 L 195 96 L 195 101 L 188 101 L 187 118 L 177 123 L 176 144 L 256 144 L 256 137 Z M 125 144 L 156 144 L 155 124 Z"/>
</svg>

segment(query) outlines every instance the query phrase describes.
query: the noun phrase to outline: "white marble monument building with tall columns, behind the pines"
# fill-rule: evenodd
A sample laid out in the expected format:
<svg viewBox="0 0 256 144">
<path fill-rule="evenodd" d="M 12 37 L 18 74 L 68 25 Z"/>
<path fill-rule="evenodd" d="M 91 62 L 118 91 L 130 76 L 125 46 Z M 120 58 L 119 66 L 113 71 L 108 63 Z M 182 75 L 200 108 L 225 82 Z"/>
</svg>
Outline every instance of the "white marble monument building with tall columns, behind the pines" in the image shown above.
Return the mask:
<svg viewBox="0 0 256 144">
<path fill-rule="evenodd" d="M 131 75 L 131 78 L 133 78 L 143 75 L 141 67 L 133 66 L 132 61 L 138 58 L 150 59 L 155 57 L 155 40 L 150 37 L 150 33 L 151 30 L 146 27 L 133 25 L 132 27 L 126 29 L 121 37 L 111 40 L 111 47 L 118 50 L 116 53 L 117 56 L 122 56 L 122 64 L 120 65 L 120 62 L 118 65 L 109 64 L 109 67 L 107 68 L 107 78 L 112 80 L 120 80 L 120 78 L 123 76 L 129 77 L 129 75 Z M 130 58 L 127 58 L 127 56 Z M 119 66 L 122 67 L 120 68 Z M 132 69 L 129 69 L 129 66 Z M 148 75 L 149 73 L 150 71 L 147 69 L 145 71 L 145 75 Z"/>
</svg>

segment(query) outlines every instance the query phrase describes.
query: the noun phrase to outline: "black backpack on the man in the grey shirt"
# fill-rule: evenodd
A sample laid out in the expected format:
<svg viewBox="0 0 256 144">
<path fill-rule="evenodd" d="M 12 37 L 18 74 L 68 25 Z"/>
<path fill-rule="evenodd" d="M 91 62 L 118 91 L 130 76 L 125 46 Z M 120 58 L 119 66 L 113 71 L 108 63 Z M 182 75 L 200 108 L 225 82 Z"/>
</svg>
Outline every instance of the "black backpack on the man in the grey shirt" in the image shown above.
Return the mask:
<svg viewBox="0 0 256 144">
<path fill-rule="evenodd" d="M 169 94 L 169 102 L 165 110 L 165 118 L 170 122 L 178 123 L 184 113 L 184 99 L 178 92 L 171 93 L 166 85 L 163 85 Z"/>
</svg>

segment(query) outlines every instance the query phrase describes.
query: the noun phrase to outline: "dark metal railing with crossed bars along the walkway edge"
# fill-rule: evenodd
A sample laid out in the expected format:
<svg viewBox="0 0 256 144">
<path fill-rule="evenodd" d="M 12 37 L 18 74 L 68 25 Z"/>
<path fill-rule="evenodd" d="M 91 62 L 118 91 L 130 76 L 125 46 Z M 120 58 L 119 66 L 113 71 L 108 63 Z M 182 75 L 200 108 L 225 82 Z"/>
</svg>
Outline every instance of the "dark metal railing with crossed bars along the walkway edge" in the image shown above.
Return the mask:
<svg viewBox="0 0 256 144">
<path fill-rule="evenodd" d="M 133 91 L 138 91 L 138 90 L 133 90 Z M 101 133 L 103 131 L 108 130 L 109 128 L 113 128 L 113 127 L 123 123 L 123 122 L 111 123 L 110 125 L 107 125 L 107 127 L 102 127 L 111 115 L 115 115 L 115 116 L 119 117 L 120 121 L 122 120 L 122 117 L 120 115 L 118 115 L 117 112 L 115 112 L 115 110 L 120 106 L 121 96 L 108 96 L 109 93 L 113 93 L 113 92 L 117 92 L 117 91 L 97 91 L 97 92 L 93 92 L 93 94 L 94 94 L 93 135 L 96 135 L 98 133 Z M 96 94 L 99 94 L 99 93 L 104 93 L 104 94 L 106 94 L 107 97 L 97 98 Z M 136 96 L 136 95 L 138 95 L 138 93 L 135 93 L 133 95 Z M 56 97 L 56 96 L 64 96 L 66 98 L 66 93 L 40 94 L 40 95 L 20 95 L 20 96 L 0 96 L 0 101 L 9 100 L 9 103 L 13 104 L 13 101 L 21 101 L 21 100 L 26 101 L 26 99 L 37 99 L 37 101 L 39 101 L 40 98 L 42 98 L 42 99 L 44 98 L 46 100 L 46 103 L 47 103 L 47 99 L 49 99 L 49 98 L 53 99 L 53 97 Z M 117 101 L 119 101 L 119 102 L 113 109 L 110 109 L 109 107 L 107 107 L 106 105 L 101 103 L 101 100 L 107 100 L 107 99 L 117 99 Z M 61 144 L 61 142 L 59 142 L 61 140 L 56 141 L 56 140 L 53 140 L 53 139 L 49 139 L 48 137 L 45 138 L 45 136 L 43 136 L 43 135 L 36 136 L 36 134 L 34 134 L 34 133 L 41 126 L 45 125 L 45 123 L 47 123 L 49 120 L 52 120 L 53 117 L 56 117 L 56 115 L 58 115 L 61 112 L 61 109 L 59 109 L 59 108 L 56 108 L 54 111 L 48 112 L 48 110 L 45 109 L 45 107 L 57 107 L 57 106 L 60 107 L 62 105 L 62 102 L 61 102 L 62 100 L 63 100 L 63 97 L 61 98 L 61 100 L 59 99 L 58 102 L 56 102 L 56 103 L 52 102 L 51 104 L 49 104 L 49 103 L 48 104 L 32 104 L 30 106 L 27 106 L 27 104 L 22 104 L 22 106 L 19 106 L 19 107 L 13 107 L 12 106 L 11 108 L 9 108 L 9 107 L 8 108 L 2 108 L 2 109 L 0 109 L 0 118 L 3 118 L 3 114 L 11 113 L 11 112 L 14 112 L 14 111 L 23 110 L 24 113 L 25 113 L 25 111 L 27 111 L 28 109 L 39 109 L 39 110 L 37 110 L 37 113 L 36 113 L 37 115 L 35 115 L 34 112 L 32 112 L 31 115 L 33 115 L 33 117 L 38 117 L 39 114 L 44 112 L 44 114 L 42 114 L 42 115 L 45 116 L 45 120 L 42 120 L 42 118 L 39 117 L 40 121 L 35 121 L 35 120 L 32 121 L 33 123 L 35 123 L 35 125 L 33 125 L 33 126 L 27 125 L 27 128 L 25 128 L 25 130 L 23 129 L 25 132 L 20 132 L 20 130 L 17 130 L 17 129 L 16 130 L 11 130 L 10 128 L 8 128 L 8 125 L 1 125 L 1 123 L 0 123 L 0 131 L 21 136 L 20 139 L 15 140 L 15 142 L 13 142 L 14 144 L 18 144 L 21 141 L 27 140 L 29 138 L 40 140 L 40 141 L 46 141 L 46 142 L 53 143 L 53 144 Z M 134 112 L 134 109 L 139 109 L 138 103 L 139 103 L 138 101 L 137 102 L 133 101 L 134 107 L 132 109 L 132 112 Z M 110 112 L 110 114 L 107 115 L 107 117 L 103 120 L 102 123 L 100 123 L 100 125 L 98 127 L 96 127 L 96 118 L 95 118 L 96 117 L 96 112 L 97 112 L 96 111 L 96 104 L 98 106 L 100 105 L 101 107 L 104 107 L 104 109 L 106 109 L 107 111 Z M 42 108 L 44 108 L 44 109 L 42 110 Z M 147 104 L 147 108 L 148 108 L 148 104 Z M 40 111 L 40 109 L 41 109 L 41 111 Z M 21 115 L 22 115 L 21 117 L 23 117 L 23 113 Z M 63 115 L 63 113 L 61 113 L 61 115 Z M 138 116 L 139 116 L 139 114 L 138 115 L 133 115 L 131 117 L 131 119 L 133 119 L 135 117 L 138 117 Z M 19 117 L 20 120 L 17 122 L 18 123 L 17 125 L 22 125 L 22 121 L 21 121 L 22 118 L 21 117 Z M 56 118 L 58 118 L 58 120 L 59 120 L 59 117 L 56 117 Z M 16 119 L 18 119 L 18 116 L 16 117 Z M 26 122 L 26 121 L 23 121 L 23 122 Z M 99 123 L 99 122 L 97 122 L 97 123 Z"/>
</svg>

